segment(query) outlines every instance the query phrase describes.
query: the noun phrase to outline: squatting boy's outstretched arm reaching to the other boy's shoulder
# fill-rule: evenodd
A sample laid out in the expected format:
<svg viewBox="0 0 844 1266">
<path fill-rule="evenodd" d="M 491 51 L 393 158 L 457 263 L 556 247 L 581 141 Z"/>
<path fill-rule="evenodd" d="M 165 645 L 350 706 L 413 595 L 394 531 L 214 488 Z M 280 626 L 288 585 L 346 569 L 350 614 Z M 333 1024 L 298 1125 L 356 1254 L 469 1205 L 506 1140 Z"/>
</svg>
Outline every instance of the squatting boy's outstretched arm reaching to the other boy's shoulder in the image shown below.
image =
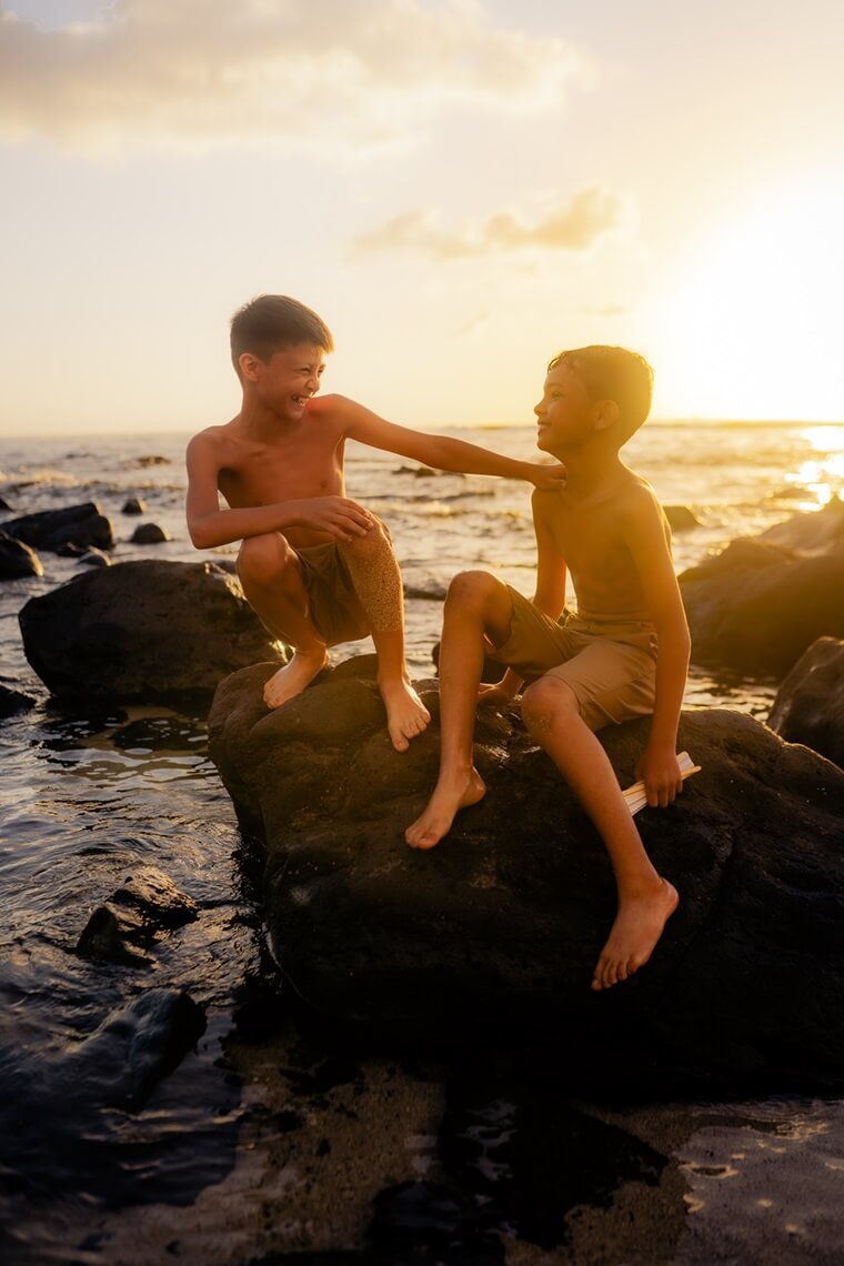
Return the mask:
<svg viewBox="0 0 844 1266">
<path fill-rule="evenodd" d="M 335 396 L 334 403 L 343 419 L 343 430 L 349 439 L 357 439 L 372 448 L 382 448 L 388 453 L 399 453 L 414 461 L 424 462 L 442 471 L 459 471 L 463 475 L 500 475 L 505 479 L 530 480 L 537 487 L 561 487 L 566 482 L 563 466 L 547 466 L 540 462 L 521 462 L 505 457 L 478 444 L 449 436 L 429 436 L 423 430 L 397 427 L 394 422 L 380 418 L 354 400 Z"/>
</svg>

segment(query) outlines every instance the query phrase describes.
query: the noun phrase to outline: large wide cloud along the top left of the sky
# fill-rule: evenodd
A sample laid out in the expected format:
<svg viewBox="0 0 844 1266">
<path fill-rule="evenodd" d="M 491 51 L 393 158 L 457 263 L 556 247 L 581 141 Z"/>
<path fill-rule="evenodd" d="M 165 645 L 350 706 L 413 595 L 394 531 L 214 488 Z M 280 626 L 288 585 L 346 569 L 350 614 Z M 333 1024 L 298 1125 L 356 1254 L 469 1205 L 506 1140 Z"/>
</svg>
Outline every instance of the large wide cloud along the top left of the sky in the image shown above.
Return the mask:
<svg viewBox="0 0 844 1266">
<path fill-rule="evenodd" d="M 558 106 L 572 51 L 478 0 L 116 0 L 44 30 L 0 11 L 0 137 L 70 147 L 407 143 L 444 106 Z"/>
</svg>

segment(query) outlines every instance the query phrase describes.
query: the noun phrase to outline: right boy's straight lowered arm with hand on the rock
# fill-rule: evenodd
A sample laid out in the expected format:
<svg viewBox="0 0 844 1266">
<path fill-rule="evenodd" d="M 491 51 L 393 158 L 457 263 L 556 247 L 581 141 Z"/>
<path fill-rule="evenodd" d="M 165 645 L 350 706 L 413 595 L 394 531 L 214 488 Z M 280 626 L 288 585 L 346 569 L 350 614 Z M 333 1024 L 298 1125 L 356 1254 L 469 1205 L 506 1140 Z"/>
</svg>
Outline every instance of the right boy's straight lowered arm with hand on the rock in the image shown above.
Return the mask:
<svg viewBox="0 0 844 1266">
<path fill-rule="evenodd" d="M 683 704 L 691 638 L 674 575 L 664 518 L 652 492 L 636 489 L 625 508 L 626 536 L 644 603 L 657 630 L 657 698 L 650 737 L 636 766 L 649 805 L 667 805 L 682 787 L 677 727 Z"/>
</svg>

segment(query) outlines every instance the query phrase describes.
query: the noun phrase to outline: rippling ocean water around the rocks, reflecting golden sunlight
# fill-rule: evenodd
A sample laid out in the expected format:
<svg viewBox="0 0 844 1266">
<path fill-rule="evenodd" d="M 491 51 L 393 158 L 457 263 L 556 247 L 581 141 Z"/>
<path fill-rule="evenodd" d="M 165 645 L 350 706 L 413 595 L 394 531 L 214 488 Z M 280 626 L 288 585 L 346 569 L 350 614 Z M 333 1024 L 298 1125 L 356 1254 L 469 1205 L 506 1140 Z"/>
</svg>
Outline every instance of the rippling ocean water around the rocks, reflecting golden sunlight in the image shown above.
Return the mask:
<svg viewBox="0 0 844 1266">
<path fill-rule="evenodd" d="M 534 452 L 530 425 L 454 433 L 512 456 Z M 0 527 L 13 514 L 95 500 L 115 525 L 115 561 L 232 560 L 234 547 L 199 555 L 187 538 L 185 442 L 178 434 L 0 439 L 0 495 L 13 508 Z M 681 571 L 839 492 L 844 425 L 649 423 L 625 456 L 664 504 L 686 505 L 700 520 L 674 536 Z M 415 676 L 431 674 L 440 599 L 456 571 L 486 567 L 531 592 L 525 485 L 425 472 L 354 446 L 347 491 L 392 532 L 411 595 L 407 657 Z M 142 496 L 148 513 L 124 517 L 128 496 Z M 133 546 L 139 522 L 161 524 L 172 539 Z M 258 863 L 209 762 L 204 718 L 163 706 L 90 714 L 57 708 L 25 661 L 16 617 L 28 598 L 76 575 L 78 563 L 47 553 L 42 561 L 43 577 L 0 584 L 0 681 L 37 699 L 30 711 L 0 723 L 3 1260 L 129 1266 L 297 1253 L 297 1262 L 316 1266 L 328 1258 L 314 1255 L 344 1252 L 344 1261 L 375 1261 L 362 1246 L 371 1209 L 385 1206 L 378 1194 L 442 1174 L 437 1122 L 448 1076 L 377 1052 L 349 1071 L 343 1051 L 302 1031 L 267 960 Z M 367 649 L 342 647 L 334 657 Z M 693 667 L 687 699 L 764 719 L 774 691 L 773 681 L 714 677 Z M 162 938 L 151 968 L 78 957 L 76 941 L 91 910 L 139 863 L 164 871 L 197 903 L 199 919 Z M 109 1103 L 84 1062 L 76 1098 L 57 1098 L 67 1061 L 151 987 L 183 990 L 204 1006 L 206 1028 L 195 1050 L 140 1108 Z M 509 1153 L 496 1155 L 516 1128 L 512 1105 L 501 1085 L 491 1082 L 485 1094 L 468 1134 L 485 1141 L 483 1163 L 473 1170 L 486 1184 L 477 1199 L 501 1200 L 504 1256 L 497 1248 L 499 1256 L 477 1256 L 481 1248 L 466 1241 L 449 1262 L 841 1260 L 838 1099 L 667 1104 L 644 1114 L 624 1105 L 612 1113 L 567 1106 L 586 1112 L 591 1129 L 600 1122 L 601 1129 L 631 1131 L 666 1166 L 655 1176 L 644 1161 L 642 1172 L 621 1172 L 607 1143 L 601 1156 L 610 1176 L 600 1191 L 578 1188 L 564 1198 L 561 1179 L 555 1194 L 535 1196 L 526 1218 L 521 1196 L 523 1213 L 514 1213 L 512 1195 L 507 1204 L 502 1193 L 524 1189 L 528 1179 L 520 1180 Z M 404 1105 L 399 1114 L 396 1103 Z M 349 1143 L 343 1169 L 338 1123 L 353 1117 L 367 1123 L 369 1142 Z M 558 1151 L 566 1148 L 566 1119 Z M 630 1190 L 635 1232 L 624 1229 L 633 1223 Z M 418 1210 L 401 1208 L 390 1205 L 386 1218 L 394 1231 L 404 1227 L 395 1261 L 409 1260 L 401 1253 L 411 1252 L 414 1234 L 419 1244 L 433 1236 L 428 1223 L 414 1232 Z M 591 1257 L 601 1236 L 615 1247 Z M 394 1260 L 390 1250 L 378 1251 L 378 1261 Z"/>
</svg>

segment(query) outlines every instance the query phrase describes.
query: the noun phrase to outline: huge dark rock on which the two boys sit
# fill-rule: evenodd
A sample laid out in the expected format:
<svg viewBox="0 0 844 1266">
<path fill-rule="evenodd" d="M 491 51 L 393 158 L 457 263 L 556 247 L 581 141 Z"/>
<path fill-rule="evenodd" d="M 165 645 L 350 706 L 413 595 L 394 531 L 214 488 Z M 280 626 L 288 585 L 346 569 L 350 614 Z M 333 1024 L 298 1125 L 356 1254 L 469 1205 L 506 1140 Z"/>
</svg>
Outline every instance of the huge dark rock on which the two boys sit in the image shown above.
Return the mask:
<svg viewBox="0 0 844 1266">
<path fill-rule="evenodd" d="M 275 953 L 314 1008 L 402 1036 L 547 1023 L 582 1066 L 623 1051 L 626 1070 L 844 1075 L 844 774 L 748 715 L 683 713 L 702 772 L 636 818 L 681 904 L 650 963 L 595 994 L 612 874 L 548 757 L 515 711 L 482 713 L 488 795 L 413 851 L 402 833 L 435 779 L 437 724 L 395 752 L 362 667 L 268 713 L 272 667 L 256 665 L 220 684 L 209 718 L 242 825 L 266 839 Z M 601 734 L 623 785 L 647 733 Z"/>
</svg>

